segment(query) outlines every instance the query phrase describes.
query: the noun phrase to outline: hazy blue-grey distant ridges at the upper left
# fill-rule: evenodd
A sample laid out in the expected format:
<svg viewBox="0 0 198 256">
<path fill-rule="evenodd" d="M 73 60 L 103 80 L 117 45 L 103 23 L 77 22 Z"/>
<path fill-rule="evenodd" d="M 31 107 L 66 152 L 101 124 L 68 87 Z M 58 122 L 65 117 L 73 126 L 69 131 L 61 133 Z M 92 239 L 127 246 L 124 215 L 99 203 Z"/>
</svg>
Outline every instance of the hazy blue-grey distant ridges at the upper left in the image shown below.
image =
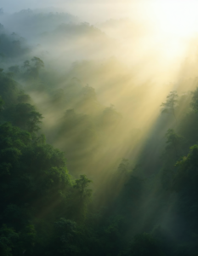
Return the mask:
<svg viewBox="0 0 198 256">
<path fill-rule="evenodd" d="M 6 26 L 1 24 L 3 22 Z M 39 10 L 24 9 L 7 15 L 0 9 L 0 58 L 31 54 L 32 49 L 27 46 L 24 37 L 34 38 L 40 33 L 48 32 L 49 27 L 54 30 L 60 24 L 71 22 L 75 24 L 77 18 L 65 13 L 42 13 Z"/>
</svg>

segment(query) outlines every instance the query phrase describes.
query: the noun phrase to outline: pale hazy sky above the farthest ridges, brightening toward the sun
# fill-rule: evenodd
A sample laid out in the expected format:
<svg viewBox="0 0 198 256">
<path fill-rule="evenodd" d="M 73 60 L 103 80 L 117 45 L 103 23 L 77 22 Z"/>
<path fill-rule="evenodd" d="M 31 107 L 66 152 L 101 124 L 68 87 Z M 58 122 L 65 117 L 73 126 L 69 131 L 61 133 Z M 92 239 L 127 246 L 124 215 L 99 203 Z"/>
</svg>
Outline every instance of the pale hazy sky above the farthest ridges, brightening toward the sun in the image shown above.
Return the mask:
<svg viewBox="0 0 198 256">
<path fill-rule="evenodd" d="M 56 8 L 93 23 L 126 17 L 149 20 L 173 34 L 186 35 L 198 27 L 198 0 L 0 0 L 0 8 L 8 13 Z"/>
</svg>

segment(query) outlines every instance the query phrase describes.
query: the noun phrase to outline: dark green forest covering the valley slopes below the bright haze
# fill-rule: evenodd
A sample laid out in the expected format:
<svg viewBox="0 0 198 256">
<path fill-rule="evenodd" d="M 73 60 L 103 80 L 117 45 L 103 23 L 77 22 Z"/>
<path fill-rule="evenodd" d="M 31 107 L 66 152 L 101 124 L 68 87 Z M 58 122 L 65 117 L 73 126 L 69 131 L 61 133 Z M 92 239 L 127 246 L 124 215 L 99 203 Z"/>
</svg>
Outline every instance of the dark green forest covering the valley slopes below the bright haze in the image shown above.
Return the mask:
<svg viewBox="0 0 198 256">
<path fill-rule="evenodd" d="M 37 15 L 59 17 L 74 19 Z M 78 30 L 99 32 L 57 32 Z M 164 95 L 144 135 L 76 78 L 99 78 L 115 60 L 76 61 L 60 74 L 12 37 L 0 34 L 0 255 L 197 256 L 197 84 Z M 135 109 L 142 90 L 133 88 Z"/>
</svg>

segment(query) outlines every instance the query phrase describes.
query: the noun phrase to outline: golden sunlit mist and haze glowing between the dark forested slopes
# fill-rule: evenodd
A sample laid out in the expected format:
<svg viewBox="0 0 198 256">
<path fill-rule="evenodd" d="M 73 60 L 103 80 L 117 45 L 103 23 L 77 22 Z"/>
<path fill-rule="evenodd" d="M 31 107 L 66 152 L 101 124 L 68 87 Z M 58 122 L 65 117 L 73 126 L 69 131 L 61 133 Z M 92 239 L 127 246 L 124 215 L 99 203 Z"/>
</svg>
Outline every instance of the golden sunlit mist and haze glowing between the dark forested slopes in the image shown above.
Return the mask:
<svg viewBox="0 0 198 256">
<path fill-rule="evenodd" d="M 198 3 L 176 0 L 42 1 L 37 5 L 33 1 L 20 2 L 21 7 L 28 4 L 35 10 L 25 9 L 13 15 L 5 12 L 0 22 L 8 32 L 24 37 L 23 44 L 31 45 L 31 53 L 20 57 L 20 65 L 24 58 L 31 60 L 34 55 L 45 63 L 40 82 L 30 81 L 26 85 L 20 80 L 20 83 L 45 117 L 42 129 L 48 141 L 65 150 L 70 166 L 73 161 L 70 158 L 75 156 L 69 148 L 81 131 L 81 125 L 67 138 L 69 135 L 63 128 L 65 119 L 71 119 L 69 115 L 65 117 L 67 110 L 74 109 L 72 114 L 79 120 L 79 114 L 88 114 L 91 119 L 94 116 L 96 127 L 99 122 L 106 122 L 103 120 L 105 114 L 112 114 L 115 125 L 104 131 L 99 126 L 94 136 L 88 138 L 86 150 L 91 152 L 94 148 L 94 154 L 88 165 L 84 163 L 83 169 L 91 172 L 94 168 L 101 172 L 106 167 L 97 163 L 106 163 L 106 158 L 113 169 L 122 158 L 139 154 L 160 114 L 164 97 L 170 90 L 180 90 L 181 81 L 196 76 L 192 69 L 187 72 L 184 66 L 187 56 L 189 62 L 197 61 L 192 59 L 196 50 L 195 47 L 192 50 L 192 45 L 195 45 L 198 29 Z M 49 7 L 50 10 L 44 9 Z M 8 65 L 8 61 L 5 62 L 5 66 Z M 71 91 L 71 87 L 76 89 Z M 92 100 L 80 96 L 84 88 L 90 91 L 93 88 Z M 55 98 L 59 103 L 52 104 Z M 89 122 L 83 121 L 82 129 L 87 131 Z M 63 127 L 58 129 L 57 124 Z M 135 139 L 135 129 L 141 131 L 139 140 Z M 106 140 L 108 132 L 110 137 Z M 65 136 L 65 140 L 61 136 Z M 137 149 L 139 143 L 142 146 Z M 82 150 L 79 154 L 82 157 L 84 153 Z M 111 154 L 116 160 L 110 157 Z M 78 160 L 81 161 L 80 157 Z M 75 165 L 73 163 L 71 169 L 75 169 Z"/>
</svg>

